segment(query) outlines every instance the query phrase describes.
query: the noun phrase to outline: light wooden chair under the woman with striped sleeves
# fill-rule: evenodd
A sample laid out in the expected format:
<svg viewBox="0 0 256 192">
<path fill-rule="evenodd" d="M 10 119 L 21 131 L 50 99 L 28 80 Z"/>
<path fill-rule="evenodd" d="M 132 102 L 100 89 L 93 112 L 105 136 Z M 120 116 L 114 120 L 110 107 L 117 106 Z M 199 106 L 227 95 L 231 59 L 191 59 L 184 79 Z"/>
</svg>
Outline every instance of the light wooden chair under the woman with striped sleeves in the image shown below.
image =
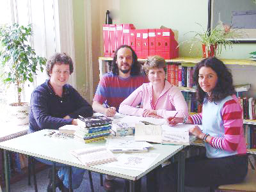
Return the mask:
<svg viewBox="0 0 256 192">
<path fill-rule="evenodd" d="M 226 191 L 256 191 L 256 172 L 249 169 L 243 182 L 237 184 L 221 185 L 218 187 L 220 192 Z"/>
</svg>

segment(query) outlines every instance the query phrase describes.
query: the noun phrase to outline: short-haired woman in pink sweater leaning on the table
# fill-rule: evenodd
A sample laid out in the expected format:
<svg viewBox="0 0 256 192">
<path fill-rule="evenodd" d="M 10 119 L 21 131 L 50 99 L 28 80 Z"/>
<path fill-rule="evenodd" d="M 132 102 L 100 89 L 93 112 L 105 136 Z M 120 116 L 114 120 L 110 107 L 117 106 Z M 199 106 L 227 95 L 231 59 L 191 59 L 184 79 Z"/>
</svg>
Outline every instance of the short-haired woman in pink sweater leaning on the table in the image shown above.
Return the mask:
<svg viewBox="0 0 256 192">
<path fill-rule="evenodd" d="M 143 66 L 150 83 L 144 83 L 127 97 L 119 112 L 125 115 L 168 118 L 188 115 L 188 106 L 177 86 L 165 80 L 165 61 L 159 56 L 150 56 Z M 141 108 L 136 108 L 140 105 Z"/>
</svg>

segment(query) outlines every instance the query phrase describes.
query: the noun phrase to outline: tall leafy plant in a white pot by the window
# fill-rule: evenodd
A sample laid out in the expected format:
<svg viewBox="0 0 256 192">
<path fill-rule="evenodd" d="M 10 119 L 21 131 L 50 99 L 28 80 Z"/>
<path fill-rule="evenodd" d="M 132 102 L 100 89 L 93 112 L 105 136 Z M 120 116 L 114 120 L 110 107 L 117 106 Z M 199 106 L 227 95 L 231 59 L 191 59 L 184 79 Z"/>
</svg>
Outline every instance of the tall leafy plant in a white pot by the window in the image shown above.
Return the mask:
<svg viewBox="0 0 256 192">
<path fill-rule="evenodd" d="M 0 77 L 4 84 L 15 86 L 17 101 L 10 106 L 17 107 L 16 112 L 11 112 L 12 122 L 17 124 L 28 123 L 29 104 L 20 100 L 22 86 L 27 81 L 33 82 L 36 70 L 42 72 L 46 63 L 46 59 L 36 56 L 35 50 L 29 45 L 31 35 L 31 24 L 27 27 L 19 26 L 19 24 L 0 27 L 0 63 L 2 67 Z M 11 110 L 13 111 L 13 109 Z M 17 120 L 13 120 L 15 116 L 18 118 Z"/>
</svg>

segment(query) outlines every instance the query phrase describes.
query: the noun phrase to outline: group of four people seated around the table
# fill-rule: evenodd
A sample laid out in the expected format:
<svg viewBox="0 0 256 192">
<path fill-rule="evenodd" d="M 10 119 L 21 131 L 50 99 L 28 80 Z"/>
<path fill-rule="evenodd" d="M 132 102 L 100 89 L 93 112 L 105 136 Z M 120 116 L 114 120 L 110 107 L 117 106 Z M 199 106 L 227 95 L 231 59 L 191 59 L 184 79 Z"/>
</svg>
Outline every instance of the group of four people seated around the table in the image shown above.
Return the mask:
<svg viewBox="0 0 256 192">
<path fill-rule="evenodd" d="M 69 84 L 74 68 L 65 53 L 56 53 L 47 62 L 49 79 L 31 95 L 30 132 L 58 129 L 67 124 L 77 125 L 78 115 L 92 116 L 93 111 L 106 116 L 116 112 L 125 115 L 165 118 L 171 126 L 195 124 L 191 134 L 205 143 L 203 157 L 186 159 L 185 185 L 216 187 L 240 182 L 247 173 L 247 155 L 243 136 L 243 109 L 234 95 L 232 74 L 222 61 L 206 58 L 196 67 L 193 79 L 202 113 L 189 116 L 188 106 L 177 86 L 166 81 L 165 61 L 150 56 L 143 65 L 128 45 L 116 49 L 111 72 L 99 82 L 92 106 Z M 202 124 L 204 132 L 198 127 Z M 46 164 L 51 161 L 38 159 Z M 68 167 L 60 167 L 56 187 L 68 191 Z M 72 167 L 72 189 L 79 188 L 84 170 Z M 177 164 L 157 170 L 159 191 L 177 191 Z M 104 188 L 115 189 L 115 178 L 106 175 Z M 49 180 L 47 191 L 52 191 Z"/>
</svg>

